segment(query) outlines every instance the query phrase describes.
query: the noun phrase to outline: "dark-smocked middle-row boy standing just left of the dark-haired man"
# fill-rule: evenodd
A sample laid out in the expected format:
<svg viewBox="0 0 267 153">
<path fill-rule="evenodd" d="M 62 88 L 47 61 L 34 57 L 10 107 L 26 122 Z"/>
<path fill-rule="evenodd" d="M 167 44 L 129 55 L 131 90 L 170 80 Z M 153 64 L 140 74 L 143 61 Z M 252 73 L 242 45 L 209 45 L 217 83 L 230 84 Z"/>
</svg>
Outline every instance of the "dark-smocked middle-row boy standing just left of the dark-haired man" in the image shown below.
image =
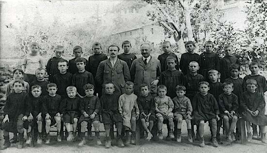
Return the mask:
<svg viewBox="0 0 267 153">
<path fill-rule="evenodd" d="M 87 83 L 94 85 L 94 77 L 92 73 L 85 70 L 86 60 L 84 58 L 76 58 L 75 63 L 78 68 L 78 72 L 72 76 L 72 85 L 77 88 L 78 96 L 84 97 L 85 93 L 83 86 Z"/>
</svg>

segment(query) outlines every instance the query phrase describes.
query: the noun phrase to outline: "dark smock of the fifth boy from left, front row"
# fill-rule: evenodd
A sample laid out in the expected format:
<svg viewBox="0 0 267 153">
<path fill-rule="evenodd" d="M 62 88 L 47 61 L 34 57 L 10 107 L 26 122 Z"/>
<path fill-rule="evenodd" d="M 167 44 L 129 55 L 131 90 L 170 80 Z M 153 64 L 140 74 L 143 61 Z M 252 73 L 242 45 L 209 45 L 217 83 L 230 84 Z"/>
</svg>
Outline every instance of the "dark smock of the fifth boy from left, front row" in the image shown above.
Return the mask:
<svg viewBox="0 0 267 153">
<path fill-rule="evenodd" d="M 84 97 L 81 99 L 81 103 L 79 106 L 79 110 L 81 112 L 81 116 L 79 118 L 79 123 L 81 123 L 82 121 L 86 121 L 88 123 L 92 123 L 94 121 L 99 121 L 99 110 L 101 109 L 101 104 L 100 104 L 100 100 L 98 97 L 93 96 L 93 97 Z M 94 112 L 96 112 L 97 114 L 95 115 L 94 119 L 90 119 L 85 118 L 83 116 L 83 113 L 86 112 L 89 116 L 91 114 L 93 114 Z"/>
</svg>

